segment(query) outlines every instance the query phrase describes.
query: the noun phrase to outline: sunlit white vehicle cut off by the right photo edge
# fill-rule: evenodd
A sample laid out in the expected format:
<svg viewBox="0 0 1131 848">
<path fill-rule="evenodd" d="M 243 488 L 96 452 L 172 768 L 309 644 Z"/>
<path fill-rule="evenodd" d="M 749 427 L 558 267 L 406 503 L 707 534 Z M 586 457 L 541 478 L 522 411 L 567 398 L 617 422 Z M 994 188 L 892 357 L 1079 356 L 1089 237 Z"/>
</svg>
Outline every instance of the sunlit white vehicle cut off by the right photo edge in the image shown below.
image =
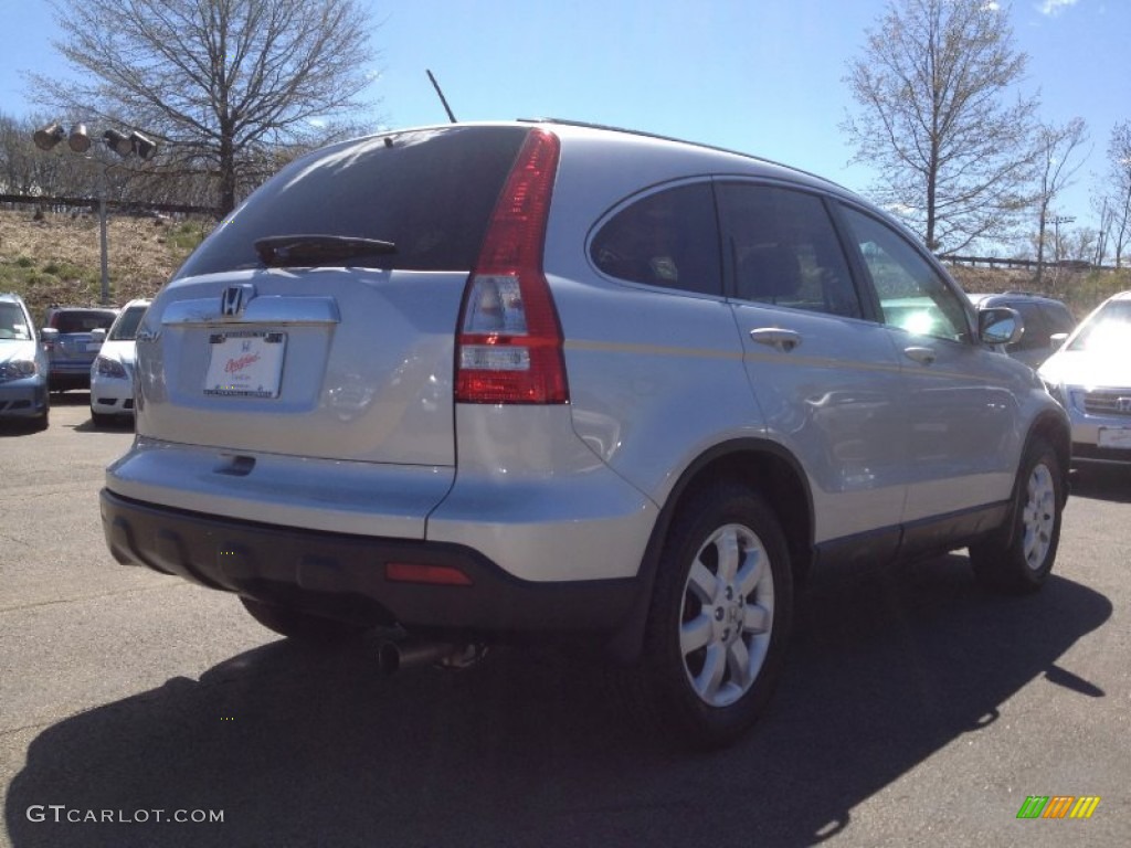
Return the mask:
<svg viewBox="0 0 1131 848">
<path fill-rule="evenodd" d="M 1131 292 L 1099 304 L 1039 373 L 1068 409 L 1073 462 L 1131 462 Z"/>
</svg>

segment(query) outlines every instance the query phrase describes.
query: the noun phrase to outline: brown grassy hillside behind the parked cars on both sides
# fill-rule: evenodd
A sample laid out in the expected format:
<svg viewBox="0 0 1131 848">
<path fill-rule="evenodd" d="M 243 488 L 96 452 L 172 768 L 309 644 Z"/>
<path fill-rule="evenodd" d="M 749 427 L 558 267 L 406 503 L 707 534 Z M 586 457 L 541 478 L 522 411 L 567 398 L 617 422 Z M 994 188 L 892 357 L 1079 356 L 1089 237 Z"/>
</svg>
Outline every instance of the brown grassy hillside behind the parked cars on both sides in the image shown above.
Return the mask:
<svg viewBox="0 0 1131 848">
<path fill-rule="evenodd" d="M 111 215 L 109 257 L 111 297 L 122 304 L 152 296 L 211 227 L 210 220 L 170 223 Z M 951 274 L 970 293 L 1037 291 L 1030 271 L 956 266 Z M 1131 270 L 1047 269 L 1045 294 L 1063 300 L 1077 318 L 1104 297 L 1131 289 Z M 24 296 L 36 320 L 53 303 L 88 305 L 101 293 L 98 218 L 0 210 L 0 292 Z"/>
</svg>

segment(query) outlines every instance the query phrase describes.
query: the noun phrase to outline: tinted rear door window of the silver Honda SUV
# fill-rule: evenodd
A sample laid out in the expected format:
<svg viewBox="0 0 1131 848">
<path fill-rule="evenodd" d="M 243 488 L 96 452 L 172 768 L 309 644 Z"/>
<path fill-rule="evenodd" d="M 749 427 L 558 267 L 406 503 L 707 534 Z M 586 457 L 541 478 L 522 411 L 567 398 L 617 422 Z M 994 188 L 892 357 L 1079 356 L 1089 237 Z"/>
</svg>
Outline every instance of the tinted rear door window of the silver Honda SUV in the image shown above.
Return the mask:
<svg viewBox="0 0 1131 848">
<path fill-rule="evenodd" d="M 734 295 L 860 318 L 860 298 L 823 201 L 771 185 L 718 187 L 723 244 Z"/>
</svg>

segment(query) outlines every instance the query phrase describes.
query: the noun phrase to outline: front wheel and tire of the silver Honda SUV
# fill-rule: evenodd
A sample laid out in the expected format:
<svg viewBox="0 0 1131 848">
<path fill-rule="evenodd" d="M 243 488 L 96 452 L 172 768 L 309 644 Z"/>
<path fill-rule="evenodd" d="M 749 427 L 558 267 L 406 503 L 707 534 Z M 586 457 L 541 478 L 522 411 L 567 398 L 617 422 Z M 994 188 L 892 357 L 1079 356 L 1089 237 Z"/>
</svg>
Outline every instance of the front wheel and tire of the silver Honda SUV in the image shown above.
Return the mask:
<svg viewBox="0 0 1131 848">
<path fill-rule="evenodd" d="M 1011 595 L 1037 591 L 1052 572 L 1060 545 L 1064 477 L 1056 451 L 1034 439 L 1025 452 L 1008 533 L 970 545 L 978 582 Z"/>
</svg>

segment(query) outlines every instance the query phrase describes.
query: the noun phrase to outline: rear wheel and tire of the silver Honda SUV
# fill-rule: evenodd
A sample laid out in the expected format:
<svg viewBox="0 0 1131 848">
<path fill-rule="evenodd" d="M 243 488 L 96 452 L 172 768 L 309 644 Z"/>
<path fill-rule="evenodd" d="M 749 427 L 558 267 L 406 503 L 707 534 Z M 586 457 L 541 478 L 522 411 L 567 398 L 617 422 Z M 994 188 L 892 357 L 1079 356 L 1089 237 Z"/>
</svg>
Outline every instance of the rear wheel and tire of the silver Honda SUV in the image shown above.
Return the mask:
<svg viewBox="0 0 1131 848">
<path fill-rule="evenodd" d="M 658 564 L 631 708 L 655 729 L 719 747 L 758 718 L 782 670 L 793 618 L 780 522 L 745 486 L 692 495 Z"/>
</svg>

